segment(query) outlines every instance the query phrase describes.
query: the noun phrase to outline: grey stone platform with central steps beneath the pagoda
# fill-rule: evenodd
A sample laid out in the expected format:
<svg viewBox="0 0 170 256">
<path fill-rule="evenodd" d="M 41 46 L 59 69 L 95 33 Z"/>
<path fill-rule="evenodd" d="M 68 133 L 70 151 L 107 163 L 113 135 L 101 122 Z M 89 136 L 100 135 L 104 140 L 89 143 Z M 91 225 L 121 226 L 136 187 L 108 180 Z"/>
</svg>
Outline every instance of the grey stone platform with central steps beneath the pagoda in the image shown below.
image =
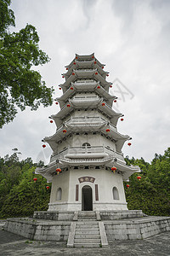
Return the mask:
<svg viewBox="0 0 170 256">
<path fill-rule="evenodd" d="M 4 230 L 31 240 L 67 241 L 67 247 L 104 247 L 168 231 L 170 217 L 142 211 L 34 212 L 34 218 L 8 218 Z"/>
</svg>

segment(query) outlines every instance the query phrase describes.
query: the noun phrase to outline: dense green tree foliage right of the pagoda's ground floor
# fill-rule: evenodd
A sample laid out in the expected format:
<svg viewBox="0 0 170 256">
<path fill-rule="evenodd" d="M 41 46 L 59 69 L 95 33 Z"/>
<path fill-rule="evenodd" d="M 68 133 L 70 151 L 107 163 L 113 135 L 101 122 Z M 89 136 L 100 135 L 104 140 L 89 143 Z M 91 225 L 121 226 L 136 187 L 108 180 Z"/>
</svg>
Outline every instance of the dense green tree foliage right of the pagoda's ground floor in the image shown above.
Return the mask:
<svg viewBox="0 0 170 256">
<path fill-rule="evenodd" d="M 170 148 L 164 155 L 155 154 L 150 164 L 142 158 L 127 160 L 127 164 L 138 165 L 142 170 L 140 174 L 134 173 L 130 177 L 129 189 L 125 183 L 128 209 L 142 209 L 149 215 L 170 216 Z M 140 181 L 138 175 L 141 176 Z"/>
</svg>

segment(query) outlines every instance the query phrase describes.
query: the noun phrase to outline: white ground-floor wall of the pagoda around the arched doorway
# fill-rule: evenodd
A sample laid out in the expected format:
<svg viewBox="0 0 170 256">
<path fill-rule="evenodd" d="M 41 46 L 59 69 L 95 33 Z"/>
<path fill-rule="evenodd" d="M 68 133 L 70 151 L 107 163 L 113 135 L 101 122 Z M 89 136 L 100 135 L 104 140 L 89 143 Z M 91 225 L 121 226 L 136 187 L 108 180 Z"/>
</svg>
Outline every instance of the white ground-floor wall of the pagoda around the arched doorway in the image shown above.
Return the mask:
<svg viewBox="0 0 170 256">
<path fill-rule="evenodd" d="M 80 177 L 94 177 L 94 183 L 79 183 Z M 99 201 L 95 197 L 95 184 L 98 184 Z M 76 201 L 78 185 L 78 201 Z M 93 191 L 93 210 L 127 210 L 127 202 L 120 174 L 101 169 L 71 169 L 54 177 L 48 211 L 81 211 L 82 187 L 88 185 Z M 112 189 L 116 187 L 119 200 L 113 199 Z M 56 201 L 57 190 L 62 189 L 61 201 Z"/>
</svg>

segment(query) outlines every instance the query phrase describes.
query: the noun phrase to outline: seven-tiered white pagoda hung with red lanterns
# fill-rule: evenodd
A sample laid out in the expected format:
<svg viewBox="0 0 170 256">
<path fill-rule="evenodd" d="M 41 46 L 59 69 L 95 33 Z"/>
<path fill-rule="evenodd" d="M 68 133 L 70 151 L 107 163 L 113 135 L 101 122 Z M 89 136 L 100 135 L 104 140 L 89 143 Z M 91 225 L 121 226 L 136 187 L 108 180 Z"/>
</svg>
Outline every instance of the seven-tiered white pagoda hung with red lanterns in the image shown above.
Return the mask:
<svg viewBox="0 0 170 256">
<path fill-rule="evenodd" d="M 140 169 L 123 158 L 131 137 L 117 131 L 123 115 L 112 108 L 116 96 L 104 67 L 94 54 L 76 55 L 62 74 L 60 111 L 50 117 L 57 129 L 42 140 L 53 154 L 36 170 L 52 183 L 48 211 L 127 210 L 123 181 Z"/>
</svg>

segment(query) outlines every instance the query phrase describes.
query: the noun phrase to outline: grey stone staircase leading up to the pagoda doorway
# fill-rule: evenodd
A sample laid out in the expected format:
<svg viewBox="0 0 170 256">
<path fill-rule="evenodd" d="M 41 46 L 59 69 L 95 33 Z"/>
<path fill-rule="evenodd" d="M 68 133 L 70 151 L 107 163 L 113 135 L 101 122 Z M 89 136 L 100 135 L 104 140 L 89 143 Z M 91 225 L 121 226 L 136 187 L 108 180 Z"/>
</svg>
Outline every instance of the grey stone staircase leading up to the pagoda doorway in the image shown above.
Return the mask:
<svg viewBox="0 0 170 256">
<path fill-rule="evenodd" d="M 78 212 L 75 220 L 71 223 L 67 247 L 108 246 L 104 224 L 97 220 L 96 212 Z"/>
</svg>

